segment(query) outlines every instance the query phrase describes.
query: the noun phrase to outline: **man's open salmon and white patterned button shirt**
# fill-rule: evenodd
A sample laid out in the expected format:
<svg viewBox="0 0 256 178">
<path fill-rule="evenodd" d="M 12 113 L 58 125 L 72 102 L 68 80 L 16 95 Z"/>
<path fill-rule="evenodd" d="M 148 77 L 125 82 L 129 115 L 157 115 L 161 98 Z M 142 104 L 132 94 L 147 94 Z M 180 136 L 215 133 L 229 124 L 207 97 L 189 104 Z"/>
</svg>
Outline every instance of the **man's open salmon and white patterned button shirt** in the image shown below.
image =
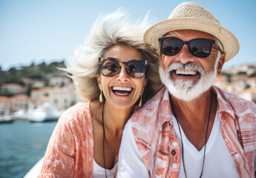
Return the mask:
<svg viewBox="0 0 256 178">
<path fill-rule="evenodd" d="M 256 105 L 215 86 L 212 90 L 217 95 L 221 133 L 240 176 L 255 177 Z M 166 88 L 131 116 L 131 129 L 151 177 L 178 177 L 180 144 L 174 133 Z"/>
</svg>

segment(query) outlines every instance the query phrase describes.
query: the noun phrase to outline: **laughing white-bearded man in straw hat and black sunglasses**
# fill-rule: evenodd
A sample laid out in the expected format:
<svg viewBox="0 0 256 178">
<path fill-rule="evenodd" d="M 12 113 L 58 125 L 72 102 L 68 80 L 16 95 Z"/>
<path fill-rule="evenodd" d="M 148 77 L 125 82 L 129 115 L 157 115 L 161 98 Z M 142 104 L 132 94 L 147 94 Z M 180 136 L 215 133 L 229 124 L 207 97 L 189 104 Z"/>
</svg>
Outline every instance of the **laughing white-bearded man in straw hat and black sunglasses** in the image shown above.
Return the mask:
<svg viewBox="0 0 256 178">
<path fill-rule="evenodd" d="M 166 88 L 125 126 L 117 177 L 255 177 L 256 106 L 213 85 L 235 36 L 185 2 L 144 40 L 160 49 Z"/>
</svg>

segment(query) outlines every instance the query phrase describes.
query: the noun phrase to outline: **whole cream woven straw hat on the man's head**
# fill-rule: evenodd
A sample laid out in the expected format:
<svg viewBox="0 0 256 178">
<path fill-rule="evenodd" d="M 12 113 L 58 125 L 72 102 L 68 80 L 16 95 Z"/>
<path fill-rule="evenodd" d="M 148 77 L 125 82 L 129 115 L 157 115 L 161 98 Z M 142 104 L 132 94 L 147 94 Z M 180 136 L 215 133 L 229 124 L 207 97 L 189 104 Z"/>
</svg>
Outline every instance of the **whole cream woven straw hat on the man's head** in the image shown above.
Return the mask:
<svg viewBox="0 0 256 178">
<path fill-rule="evenodd" d="M 205 7 L 195 2 L 179 4 L 167 20 L 154 24 L 144 34 L 145 44 L 159 49 L 158 39 L 174 30 L 200 30 L 210 33 L 220 40 L 226 53 L 226 62 L 232 59 L 239 50 L 239 42 L 232 32 L 220 25 L 217 18 Z"/>
</svg>

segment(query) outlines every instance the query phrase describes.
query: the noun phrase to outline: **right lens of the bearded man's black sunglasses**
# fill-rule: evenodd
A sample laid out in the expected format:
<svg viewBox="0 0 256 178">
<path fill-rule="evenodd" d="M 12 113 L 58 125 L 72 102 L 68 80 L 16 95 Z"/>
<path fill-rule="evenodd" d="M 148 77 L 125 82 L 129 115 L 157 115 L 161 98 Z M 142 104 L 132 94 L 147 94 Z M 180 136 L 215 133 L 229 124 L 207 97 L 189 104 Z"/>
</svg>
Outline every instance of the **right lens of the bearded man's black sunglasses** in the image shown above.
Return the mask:
<svg viewBox="0 0 256 178">
<path fill-rule="evenodd" d="M 195 39 L 190 43 L 190 52 L 197 57 L 208 57 L 211 53 L 211 44 L 204 39 Z"/>
</svg>

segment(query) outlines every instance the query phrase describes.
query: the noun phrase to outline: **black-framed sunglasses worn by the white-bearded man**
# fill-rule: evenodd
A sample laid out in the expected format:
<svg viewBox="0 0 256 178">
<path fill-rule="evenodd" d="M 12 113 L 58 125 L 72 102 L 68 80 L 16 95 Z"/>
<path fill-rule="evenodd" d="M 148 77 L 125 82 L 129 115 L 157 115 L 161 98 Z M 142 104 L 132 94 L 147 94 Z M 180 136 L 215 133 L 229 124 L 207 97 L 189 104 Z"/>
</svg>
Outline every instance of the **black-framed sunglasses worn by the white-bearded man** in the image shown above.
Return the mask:
<svg viewBox="0 0 256 178">
<path fill-rule="evenodd" d="M 196 57 L 205 58 L 211 54 L 212 44 L 215 43 L 213 39 L 191 39 L 184 42 L 173 36 L 165 36 L 158 39 L 160 42 L 161 53 L 165 56 L 174 56 L 180 52 L 184 44 L 188 45 L 189 52 Z"/>
</svg>

